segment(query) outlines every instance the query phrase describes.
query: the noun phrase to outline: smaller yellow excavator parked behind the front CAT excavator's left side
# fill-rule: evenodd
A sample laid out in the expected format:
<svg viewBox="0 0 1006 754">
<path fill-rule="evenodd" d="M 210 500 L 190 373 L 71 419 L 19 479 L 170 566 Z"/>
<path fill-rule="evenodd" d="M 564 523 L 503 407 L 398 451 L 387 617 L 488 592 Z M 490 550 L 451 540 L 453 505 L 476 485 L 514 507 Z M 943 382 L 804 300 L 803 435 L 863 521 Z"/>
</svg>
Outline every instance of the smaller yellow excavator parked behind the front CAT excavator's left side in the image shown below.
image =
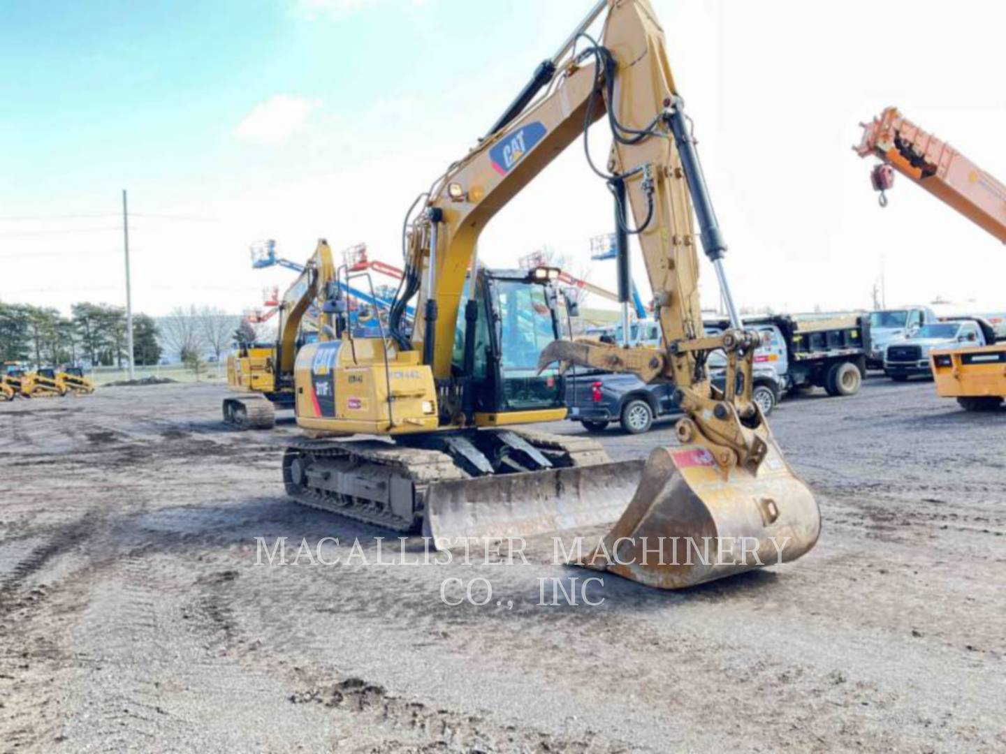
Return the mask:
<svg viewBox="0 0 1006 754">
<path fill-rule="evenodd" d="M 242 429 L 271 429 L 276 425 L 276 406 L 293 407 L 294 358 L 305 337 L 305 315 L 333 279 L 332 249 L 321 239 L 303 271 L 283 295 L 277 343 L 241 344 L 227 357 L 227 386 L 243 395 L 223 399 L 225 422 Z"/>
</svg>

